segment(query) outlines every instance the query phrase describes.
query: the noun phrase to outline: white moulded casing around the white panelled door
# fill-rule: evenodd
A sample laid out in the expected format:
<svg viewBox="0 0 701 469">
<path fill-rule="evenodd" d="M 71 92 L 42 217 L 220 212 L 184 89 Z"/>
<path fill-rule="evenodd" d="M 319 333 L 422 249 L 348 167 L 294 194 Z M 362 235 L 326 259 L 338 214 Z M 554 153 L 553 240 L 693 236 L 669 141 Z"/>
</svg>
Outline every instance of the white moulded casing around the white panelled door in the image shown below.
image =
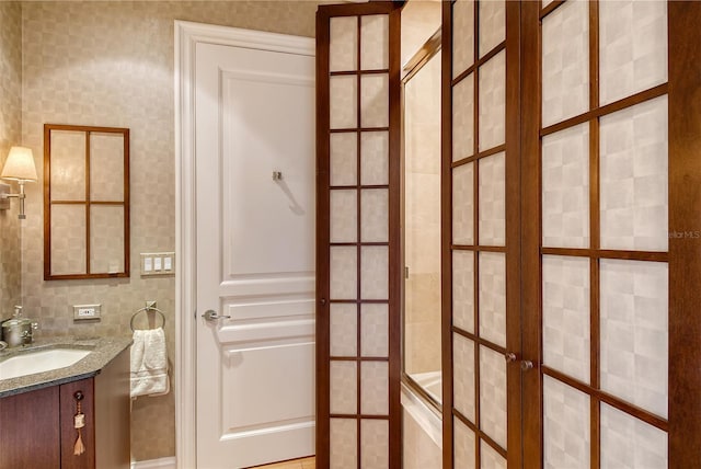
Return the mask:
<svg viewBox="0 0 701 469">
<path fill-rule="evenodd" d="M 197 465 L 197 225 L 195 214 L 195 68 L 197 44 L 314 56 L 311 37 L 175 21 L 175 455 Z M 192 314 L 192 316 L 191 316 Z"/>
</svg>

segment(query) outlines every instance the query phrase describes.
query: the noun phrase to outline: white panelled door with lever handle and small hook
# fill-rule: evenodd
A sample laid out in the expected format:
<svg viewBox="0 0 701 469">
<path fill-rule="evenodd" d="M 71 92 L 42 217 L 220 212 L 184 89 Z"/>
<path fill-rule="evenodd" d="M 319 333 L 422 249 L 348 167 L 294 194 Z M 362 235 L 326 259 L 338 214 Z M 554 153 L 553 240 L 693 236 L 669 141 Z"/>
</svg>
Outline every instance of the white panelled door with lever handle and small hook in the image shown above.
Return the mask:
<svg viewBox="0 0 701 469">
<path fill-rule="evenodd" d="M 196 47 L 197 467 L 313 455 L 313 41 Z"/>
</svg>

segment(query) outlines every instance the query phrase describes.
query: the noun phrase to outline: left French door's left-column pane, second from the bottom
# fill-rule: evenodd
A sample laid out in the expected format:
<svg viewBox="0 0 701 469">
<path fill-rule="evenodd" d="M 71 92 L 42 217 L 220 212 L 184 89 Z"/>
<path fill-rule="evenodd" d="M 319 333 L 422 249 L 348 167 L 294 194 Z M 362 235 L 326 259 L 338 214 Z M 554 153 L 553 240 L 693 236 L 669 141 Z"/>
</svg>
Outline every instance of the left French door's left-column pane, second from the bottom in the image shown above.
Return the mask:
<svg viewBox="0 0 701 469">
<path fill-rule="evenodd" d="M 474 414 L 474 342 L 452 334 L 452 405 L 470 422 Z"/>
</svg>

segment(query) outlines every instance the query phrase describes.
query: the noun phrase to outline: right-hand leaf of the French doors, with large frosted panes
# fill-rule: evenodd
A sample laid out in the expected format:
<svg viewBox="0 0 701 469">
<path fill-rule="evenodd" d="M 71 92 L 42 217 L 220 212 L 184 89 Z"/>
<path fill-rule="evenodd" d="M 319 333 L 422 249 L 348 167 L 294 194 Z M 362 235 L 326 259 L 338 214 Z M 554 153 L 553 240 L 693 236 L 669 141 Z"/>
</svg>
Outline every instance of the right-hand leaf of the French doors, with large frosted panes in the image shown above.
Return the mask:
<svg viewBox="0 0 701 469">
<path fill-rule="evenodd" d="M 524 467 L 699 465 L 700 10 L 521 5 Z"/>
</svg>

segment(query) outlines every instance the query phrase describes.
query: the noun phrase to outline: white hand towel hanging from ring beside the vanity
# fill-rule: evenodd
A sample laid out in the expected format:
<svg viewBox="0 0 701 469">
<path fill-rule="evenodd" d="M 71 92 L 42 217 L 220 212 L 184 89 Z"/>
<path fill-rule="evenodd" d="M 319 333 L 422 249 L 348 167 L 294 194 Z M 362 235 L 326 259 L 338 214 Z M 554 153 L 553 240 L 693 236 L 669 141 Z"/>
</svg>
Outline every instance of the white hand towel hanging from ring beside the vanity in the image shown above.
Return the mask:
<svg viewBox="0 0 701 469">
<path fill-rule="evenodd" d="M 162 328 L 134 331 L 131 399 L 162 396 L 169 390 L 165 332 Z"/>
</svg>

